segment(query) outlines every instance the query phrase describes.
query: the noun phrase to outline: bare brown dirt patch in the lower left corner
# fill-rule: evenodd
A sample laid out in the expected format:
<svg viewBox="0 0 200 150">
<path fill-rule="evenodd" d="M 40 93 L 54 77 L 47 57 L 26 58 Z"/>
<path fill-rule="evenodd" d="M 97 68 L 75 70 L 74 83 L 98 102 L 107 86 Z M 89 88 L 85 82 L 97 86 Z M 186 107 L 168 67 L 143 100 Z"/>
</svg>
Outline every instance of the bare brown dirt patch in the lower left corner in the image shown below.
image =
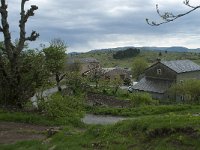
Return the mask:
<svg viewBox="0 0 200 150">
<path fill-rule="evenodd" d="M 47 126 L 25 123 L 0 122 L 0 144 L 10 144 L 23 140 L 46 138 Z"/>
</svg>

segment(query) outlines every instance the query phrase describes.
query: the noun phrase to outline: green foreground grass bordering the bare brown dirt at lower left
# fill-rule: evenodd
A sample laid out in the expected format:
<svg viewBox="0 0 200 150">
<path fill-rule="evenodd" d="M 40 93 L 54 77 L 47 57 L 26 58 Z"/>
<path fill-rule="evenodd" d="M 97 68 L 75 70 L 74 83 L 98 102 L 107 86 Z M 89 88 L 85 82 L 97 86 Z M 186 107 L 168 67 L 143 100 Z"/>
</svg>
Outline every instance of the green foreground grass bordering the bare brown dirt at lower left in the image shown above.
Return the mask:
<svg viewBox="0 0 200 150">
<path fill-rule="evenodd" d="M 200 112 L 199 107 L 180 105 L 135 108 L 132 113 L 138 117 L 133 120 L 108 126 L 76 128 L 65 126 L 61 132 L 46 141 L 24 141 L 12 145 L 0 145 L 0 149 L 196 150 L 200 147 L 200 116 L 193 114 Z M 44 122 L 41 121 L 43 119 Z M 35 124 L 48 124 L 50 121 L 39 115 L 3 111 L 0 113 L 0 120 Z M 55 124 L 55 121 L 49 123 Z"/>
</svg>

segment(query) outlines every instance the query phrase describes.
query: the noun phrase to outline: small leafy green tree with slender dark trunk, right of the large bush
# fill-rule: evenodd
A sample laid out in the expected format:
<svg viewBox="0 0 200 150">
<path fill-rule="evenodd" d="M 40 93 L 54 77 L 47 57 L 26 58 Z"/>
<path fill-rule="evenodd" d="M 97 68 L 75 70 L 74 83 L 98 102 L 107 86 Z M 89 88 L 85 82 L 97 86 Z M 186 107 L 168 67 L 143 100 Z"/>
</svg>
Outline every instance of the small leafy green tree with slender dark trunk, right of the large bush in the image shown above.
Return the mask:
<svg viewBox="0 0 200 150">
<path fill-rule="evenodd" d="M 61 39 L 53 39 L 50 46 L 43 51 L 46 58 L 46 66 L 50 73 L 55 76 L 58 91 L 61 91 L 60 82 L 64 79 L 66 73 L 66 44 Z"/>
</svg>

